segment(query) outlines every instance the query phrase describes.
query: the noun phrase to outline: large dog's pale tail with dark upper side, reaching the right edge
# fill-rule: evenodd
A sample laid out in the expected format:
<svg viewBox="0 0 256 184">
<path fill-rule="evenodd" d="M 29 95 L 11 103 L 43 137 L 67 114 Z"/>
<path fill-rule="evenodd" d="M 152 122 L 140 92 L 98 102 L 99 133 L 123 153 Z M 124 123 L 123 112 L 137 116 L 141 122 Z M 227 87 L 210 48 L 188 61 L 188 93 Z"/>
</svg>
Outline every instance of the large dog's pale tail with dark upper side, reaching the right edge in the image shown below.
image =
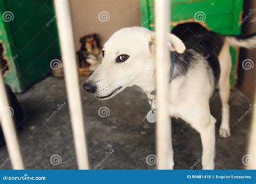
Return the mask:
<svg viewBox="0 0 256 184">
<path fill-rule="evenodd" d="M 250 34 L 248 36 L 226 36 L 226 40 L 230 46 L 256 48 L 256 33 Z"/>
</svg>

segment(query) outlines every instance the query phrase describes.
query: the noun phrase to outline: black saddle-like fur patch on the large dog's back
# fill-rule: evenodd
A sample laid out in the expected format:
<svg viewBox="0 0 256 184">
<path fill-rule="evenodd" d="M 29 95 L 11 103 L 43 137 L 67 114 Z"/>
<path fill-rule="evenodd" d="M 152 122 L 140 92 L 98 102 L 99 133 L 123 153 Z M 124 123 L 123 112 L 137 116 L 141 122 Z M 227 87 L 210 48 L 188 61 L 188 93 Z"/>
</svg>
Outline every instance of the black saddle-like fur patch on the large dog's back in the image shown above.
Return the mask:
<svg viewBox="0 0 256 184">
<path fill-rule="evenodd" d="M 214 83 L 217 84 L 220 77 L 218 55 L 223 47 L 225 37 L 216 32 L 208 31 L 198 23 L 179 24 L 174 27 L 172 33 L 183 41 L 187 49 L 191 48 L 203 55 L 214 74 Z M 181 55 L 180 59 L 186 66 L 180 65 L 180 72 L 184 74 L 193 62 L 193 54 L 185 52 Z"/>
</svg>

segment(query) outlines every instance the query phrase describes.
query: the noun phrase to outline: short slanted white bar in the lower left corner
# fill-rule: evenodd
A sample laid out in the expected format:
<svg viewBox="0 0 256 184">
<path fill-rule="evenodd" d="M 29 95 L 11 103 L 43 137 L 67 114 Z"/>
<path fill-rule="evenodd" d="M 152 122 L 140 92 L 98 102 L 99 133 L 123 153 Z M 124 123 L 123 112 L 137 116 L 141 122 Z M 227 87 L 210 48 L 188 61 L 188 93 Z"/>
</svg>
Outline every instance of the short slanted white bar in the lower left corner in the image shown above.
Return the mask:
<svg viewBox="0 0 256 184">
<path fill-rule="evenodd" d="M 2 62 L 1 59 L 0 62 Z M 15 114 L 15 112 L 10 107 L 2 74 L 0 74 L 0 94 L 1 125 L 4 133 L 5 143 L 10 154 L 12 168 L 24 169 L 23 158 L 21 150 L 19 149 L 18 138 L 15 131 L 15 122 L 14 118 L 12 117 L 12 114 Z"/>
</svg>

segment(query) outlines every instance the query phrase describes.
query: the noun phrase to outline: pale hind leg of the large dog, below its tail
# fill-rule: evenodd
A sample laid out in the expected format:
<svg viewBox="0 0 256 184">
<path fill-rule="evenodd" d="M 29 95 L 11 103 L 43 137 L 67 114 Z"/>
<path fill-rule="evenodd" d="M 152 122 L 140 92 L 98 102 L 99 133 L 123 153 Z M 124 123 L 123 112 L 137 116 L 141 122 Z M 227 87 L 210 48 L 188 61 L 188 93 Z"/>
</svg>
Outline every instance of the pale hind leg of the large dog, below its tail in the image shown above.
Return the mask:
<svg viewBox="0 0 256 184">
<path fill-rule="evenodd" d="M 230 54 L 230 46 L 224 44 L 223 49 L 219 55 L 220 62 L 220 80 L 219 93 L 222 104 L 221 125 L 219 129 L 220 137 L 229 137 L 230 133 L 230 106 L 228 100 L 230 98 L 230 72 L 232 67 L 232 60 Z"/>
</svg>

